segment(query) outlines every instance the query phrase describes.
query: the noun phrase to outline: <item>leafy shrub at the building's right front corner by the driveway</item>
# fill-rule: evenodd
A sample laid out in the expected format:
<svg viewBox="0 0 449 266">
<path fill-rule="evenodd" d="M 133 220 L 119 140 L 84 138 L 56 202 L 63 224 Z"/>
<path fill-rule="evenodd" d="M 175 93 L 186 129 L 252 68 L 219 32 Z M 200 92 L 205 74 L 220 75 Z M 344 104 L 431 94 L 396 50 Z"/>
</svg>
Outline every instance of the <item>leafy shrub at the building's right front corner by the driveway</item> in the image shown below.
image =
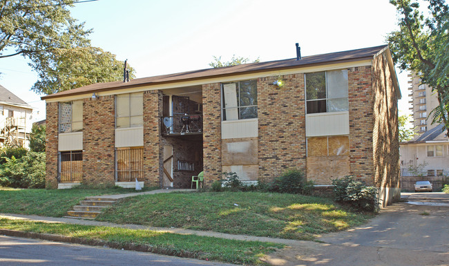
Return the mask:
<svg viewBox="0 0 449 266">
<path fill-rule="evenodd" d="M 362 211 L 377 211 L 377 189 L 356 181 L 352 176 L 332 180 L 337 202 L 345 202 Z"/>
</svg>

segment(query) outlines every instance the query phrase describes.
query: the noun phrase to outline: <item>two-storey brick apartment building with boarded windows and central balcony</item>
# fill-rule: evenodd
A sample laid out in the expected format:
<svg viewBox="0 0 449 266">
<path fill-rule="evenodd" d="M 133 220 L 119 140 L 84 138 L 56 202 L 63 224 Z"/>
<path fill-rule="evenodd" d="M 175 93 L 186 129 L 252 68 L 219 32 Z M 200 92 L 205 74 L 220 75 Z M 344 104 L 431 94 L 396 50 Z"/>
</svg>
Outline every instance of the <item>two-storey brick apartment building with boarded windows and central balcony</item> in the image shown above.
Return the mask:
<svg viewBox="0 0 449 266">
<path fill-rule="evenodd" d="M 292 49 L 293 50 L 293 49 Z M 46 186 L 187 188 L 286 169 L 354 175 L 399 198 L 397 100 L 388 46 L 92 84 L 46 95 Z"/>
</svg>

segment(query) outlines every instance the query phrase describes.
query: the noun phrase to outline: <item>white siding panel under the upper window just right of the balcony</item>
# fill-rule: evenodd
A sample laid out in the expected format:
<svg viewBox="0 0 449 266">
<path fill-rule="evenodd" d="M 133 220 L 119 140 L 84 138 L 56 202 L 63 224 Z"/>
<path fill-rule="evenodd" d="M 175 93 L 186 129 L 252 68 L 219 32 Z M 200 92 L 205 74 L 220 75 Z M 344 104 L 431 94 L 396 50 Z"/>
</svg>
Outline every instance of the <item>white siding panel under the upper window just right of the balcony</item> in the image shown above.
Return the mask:
<svg viewBox="0 0 449 266">
<path fill-rule="evenodd" d="M 257 136 L 258 136 L 257 119 L 222 121 L 221 124 L 222 139 L 257 137 Z"/>
</svg>

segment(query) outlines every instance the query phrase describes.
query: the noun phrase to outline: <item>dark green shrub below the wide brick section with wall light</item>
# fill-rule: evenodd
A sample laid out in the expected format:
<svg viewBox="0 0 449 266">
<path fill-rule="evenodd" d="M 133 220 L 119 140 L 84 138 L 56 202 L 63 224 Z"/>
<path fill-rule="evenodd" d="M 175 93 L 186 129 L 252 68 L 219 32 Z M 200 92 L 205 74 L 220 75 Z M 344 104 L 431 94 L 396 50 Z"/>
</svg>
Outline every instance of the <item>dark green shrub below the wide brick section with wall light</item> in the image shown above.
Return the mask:
<svg viewBox="0 0 449 266">
<path fill-rule="evenodd" d="M 269 183 L 268 190 L 279 193 L 304 193 L 305 183 L 302 171 L 289 169 L 283 175 L 280 175 L 280 177 Z"/>
</svg>

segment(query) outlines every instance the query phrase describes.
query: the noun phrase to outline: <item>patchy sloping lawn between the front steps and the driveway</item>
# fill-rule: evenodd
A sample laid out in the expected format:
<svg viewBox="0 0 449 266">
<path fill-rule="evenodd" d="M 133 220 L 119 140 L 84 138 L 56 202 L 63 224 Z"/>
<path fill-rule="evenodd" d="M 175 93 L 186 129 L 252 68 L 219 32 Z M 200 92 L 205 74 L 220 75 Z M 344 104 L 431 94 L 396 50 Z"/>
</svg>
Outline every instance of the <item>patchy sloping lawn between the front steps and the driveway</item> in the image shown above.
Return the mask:
<svg viewBox="0 0 449 266">
<path fill-rule="evenodd" d="M 372 214 L 345 211 L 329 198 L 281 193 L 206 192 L 126 198 L 97 220 L 315 240 L 320 234 L 361 225 L 369 218 Z"/>
</svg>

